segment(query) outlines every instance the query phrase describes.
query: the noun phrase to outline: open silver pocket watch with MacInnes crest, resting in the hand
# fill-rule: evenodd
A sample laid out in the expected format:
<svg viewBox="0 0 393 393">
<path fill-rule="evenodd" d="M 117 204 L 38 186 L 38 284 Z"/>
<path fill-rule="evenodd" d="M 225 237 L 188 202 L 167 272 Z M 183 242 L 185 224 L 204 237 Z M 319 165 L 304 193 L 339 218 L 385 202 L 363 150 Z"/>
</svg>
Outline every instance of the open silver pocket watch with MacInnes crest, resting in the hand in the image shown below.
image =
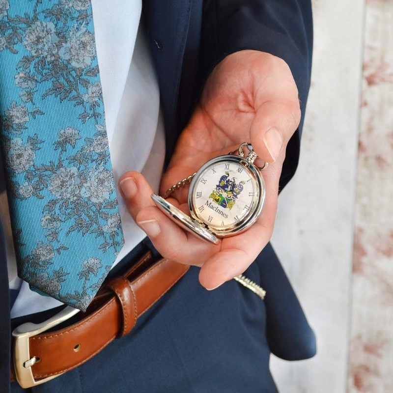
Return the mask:
<svg viewBox="0 0 393 393">
<path fill-rule="evenodd" d="M 156 194 L 151 197 L 178 225 L 203 240 L 219 244 L 220 238 L 245 231 L 262 212 L 266 189 L 260 171 L 267 163 L 259 168 L 254 164 L 256 158 L 253 146 L 242 143 L 238 155 L 231 152 L 215 157 L 168 189 L 164 197 Z M 187 184 L 190 184 L 190 216 L 166 200 L 172 192 Z"/>
</svg>

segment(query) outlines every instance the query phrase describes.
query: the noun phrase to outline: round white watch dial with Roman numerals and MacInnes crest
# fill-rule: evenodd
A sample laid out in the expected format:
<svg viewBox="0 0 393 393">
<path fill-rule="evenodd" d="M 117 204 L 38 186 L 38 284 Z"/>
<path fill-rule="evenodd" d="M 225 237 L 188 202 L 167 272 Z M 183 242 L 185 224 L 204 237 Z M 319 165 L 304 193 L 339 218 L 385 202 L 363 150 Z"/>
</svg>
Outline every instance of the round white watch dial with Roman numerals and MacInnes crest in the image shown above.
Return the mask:
<svg viewBox="0 0 393 393">
<path fill-rule="evenodd" d="M 192 214 L 216 233 L 242 227 L 261 209 L 263 180 L 244 165 L 245 160 L 232 157 L 209 161 L 197 172 L 190 187 Z"/>
</svg>

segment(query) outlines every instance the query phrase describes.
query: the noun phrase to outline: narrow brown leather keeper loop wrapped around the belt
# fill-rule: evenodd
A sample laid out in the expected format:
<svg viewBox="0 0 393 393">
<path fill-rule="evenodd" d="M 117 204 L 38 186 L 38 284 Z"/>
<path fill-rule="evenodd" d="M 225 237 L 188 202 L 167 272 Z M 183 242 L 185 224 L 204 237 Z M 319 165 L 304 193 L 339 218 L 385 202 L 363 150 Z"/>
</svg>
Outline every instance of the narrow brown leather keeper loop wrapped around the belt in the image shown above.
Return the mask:
<svg viewBox="0 0 393 393">
<path fill-rule="evenodd" d="M 122 276 L 115 277 L 108 283 L 108 287 L 116 295 L 122 312 L 123 326 L 117 335 L 117 338 L 120 338 L 130 333 L 137 323 L 137 302 L 131 283 L 126 278 Z"/>
</svg>

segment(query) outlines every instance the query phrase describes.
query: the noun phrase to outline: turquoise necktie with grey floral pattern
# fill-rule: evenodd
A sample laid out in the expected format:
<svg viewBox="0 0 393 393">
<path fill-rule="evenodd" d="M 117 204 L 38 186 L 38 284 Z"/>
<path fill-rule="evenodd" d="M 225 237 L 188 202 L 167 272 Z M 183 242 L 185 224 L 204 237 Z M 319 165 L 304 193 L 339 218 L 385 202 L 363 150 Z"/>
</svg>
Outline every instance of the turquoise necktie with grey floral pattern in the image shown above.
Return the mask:
<svg viewBox="0 0 393 393">
<path fill-rule="evenodd" d="M 89 0 L 0 0 L 0 113 L 19 276 L 85 310 L 123 246 Z"/>
</svg>

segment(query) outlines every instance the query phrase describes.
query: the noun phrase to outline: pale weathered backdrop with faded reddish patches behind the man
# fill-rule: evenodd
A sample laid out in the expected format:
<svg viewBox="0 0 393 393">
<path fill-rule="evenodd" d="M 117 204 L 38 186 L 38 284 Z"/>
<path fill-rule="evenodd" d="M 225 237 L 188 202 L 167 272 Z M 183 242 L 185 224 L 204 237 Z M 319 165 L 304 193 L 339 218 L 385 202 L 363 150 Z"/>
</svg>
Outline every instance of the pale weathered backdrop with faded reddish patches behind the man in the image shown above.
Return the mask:
<svg viewBox="0 0 393 393">
<path fill-rule="evenodd" d="M 280 392 L 393 392 L 393 1 L 314 0 L 302 154 L 273 237 L 318 337 Z"/>
</svg>

